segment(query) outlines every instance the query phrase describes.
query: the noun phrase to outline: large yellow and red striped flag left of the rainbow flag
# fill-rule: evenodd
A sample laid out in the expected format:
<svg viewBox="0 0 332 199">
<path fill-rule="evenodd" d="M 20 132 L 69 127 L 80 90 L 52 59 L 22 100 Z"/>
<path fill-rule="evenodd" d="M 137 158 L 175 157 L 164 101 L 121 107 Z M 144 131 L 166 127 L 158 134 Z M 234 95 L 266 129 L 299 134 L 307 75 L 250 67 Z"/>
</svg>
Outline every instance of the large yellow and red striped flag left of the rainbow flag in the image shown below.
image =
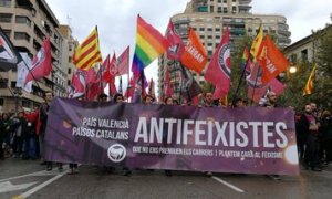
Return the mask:
<svg viewBox="0 0 332 199">
<path fill-rule="evenodd" d="M 89 36 L 75 49 L 73 64 L 77 69 L 89 70 L 97 62 L 102 62 L 102 54 L 98 31 L 95 27 Z"/>
</svg>

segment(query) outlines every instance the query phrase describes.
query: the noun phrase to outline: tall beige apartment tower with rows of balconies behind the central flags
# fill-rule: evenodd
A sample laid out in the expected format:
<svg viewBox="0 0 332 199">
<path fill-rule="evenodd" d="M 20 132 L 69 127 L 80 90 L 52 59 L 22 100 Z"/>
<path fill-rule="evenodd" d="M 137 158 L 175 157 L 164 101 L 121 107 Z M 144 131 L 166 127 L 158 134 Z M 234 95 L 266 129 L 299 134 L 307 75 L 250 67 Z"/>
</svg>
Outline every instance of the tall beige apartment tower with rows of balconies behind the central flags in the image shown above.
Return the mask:
<svg viewBox="0 0 332 199">
<path fill-rule="evenodd" d="M 175 29 L 186 42 L 188 28 L 191 27 L 203 42 L 209 59 L 218 46 L 226 27 L 230 30 L 231 49 L 234 41 L 245 34 L 256 36 L 259 25 L 262 23 L 263 31 L 274 35 L 280 46 L 291 43 L 287 19 L 282 15 L 252 14 L 251 0 L 191 0 L 184 13 L 172 17 Z M 165 67 L 169 63 L 166 56 L 159 59 L 158 91 L 162 96 L 164 90 Z M 194 74 L 198 82 L 204 82 L 200 74 Z"/>
</svg>

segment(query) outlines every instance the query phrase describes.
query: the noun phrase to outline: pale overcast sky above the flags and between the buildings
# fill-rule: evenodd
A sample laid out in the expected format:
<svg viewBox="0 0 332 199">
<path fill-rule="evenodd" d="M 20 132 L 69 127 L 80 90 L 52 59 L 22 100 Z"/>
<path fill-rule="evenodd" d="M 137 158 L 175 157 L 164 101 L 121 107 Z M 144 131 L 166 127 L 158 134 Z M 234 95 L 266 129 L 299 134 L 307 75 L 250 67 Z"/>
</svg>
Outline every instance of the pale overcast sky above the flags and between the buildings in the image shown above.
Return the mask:
<svg viewBox="0 0 332 199">
<path fill-rule="evenodd" d="M 103 55 L 135 48 L 136 18 L 143 19 L 163 34 L 169 17 L 185 10 L 189 0 L 46 0 L 60 23 L 70 24 L 73 36 L 81 42 L 98 25 Z M 291 40 L 295 42 L 331 22 L 332 0 L 252 0 L 252 13 L 281 14 L 287 18 Z M 156 61 L 149 65 L 147 78 L 157 80 Z"/>
</svg>

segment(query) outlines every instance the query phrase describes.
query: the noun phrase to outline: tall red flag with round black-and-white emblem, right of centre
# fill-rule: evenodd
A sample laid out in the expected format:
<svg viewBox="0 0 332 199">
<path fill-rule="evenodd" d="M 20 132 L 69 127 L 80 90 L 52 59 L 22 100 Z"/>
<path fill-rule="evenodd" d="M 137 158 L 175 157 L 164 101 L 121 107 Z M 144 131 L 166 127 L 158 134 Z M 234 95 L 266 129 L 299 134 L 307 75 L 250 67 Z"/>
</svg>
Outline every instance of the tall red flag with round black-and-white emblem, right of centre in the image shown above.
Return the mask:
<svg viewBox="0 0 332 199">
<path fill-rule="evenodd" d="M 204 77 L 216 86 L 214 98 L 226 96 L 230 86 L 230 42 L 229 29 L 222 35 Z"/>
</svg>

